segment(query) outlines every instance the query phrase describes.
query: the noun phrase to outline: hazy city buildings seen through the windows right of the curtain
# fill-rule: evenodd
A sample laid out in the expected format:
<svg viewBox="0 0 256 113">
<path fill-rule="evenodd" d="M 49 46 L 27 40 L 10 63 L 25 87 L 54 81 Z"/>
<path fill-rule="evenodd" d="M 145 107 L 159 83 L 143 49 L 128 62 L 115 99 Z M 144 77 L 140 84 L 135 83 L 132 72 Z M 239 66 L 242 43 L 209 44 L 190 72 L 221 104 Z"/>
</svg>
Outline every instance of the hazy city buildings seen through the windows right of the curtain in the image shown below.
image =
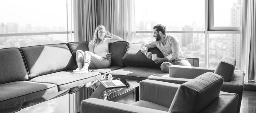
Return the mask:
<svg viewBox="0 0 256 113">
<path fill-rule="evenodd" d="M 233 0 L 234 1 L 234 0 Z M 218 1 L 220 2 L 220 1 Z M 241 0 L 237 0 L 241 3 Z M 238 8 L 239 7 L 239 8 Z M 140 7 L 141 8 L 141 7 Z M 231 4 L 229 5 L 229 10 L 224 12 L 229 12 L 229 23 L 223 24 L 223 26 L 240 26 L 241 25 L 241 4 Z M 218 8 L 217 8 L 218 9 Z M 223 10 L 223 9 L 222 9 Z M 145 10 L 148 11 L 148 10 Z M 217 10 L 218 12 L 218 10 Z M 222 11 L 223 12 L 223 11 Z M 144 15 L 147 15 L 149 12 L 144 12 Z M 232 14 L 233 13 L 233 14 Z M 235 14 L 234 14 L 235 13 Z M 220 13 L 222 14 L 222 13 Z M 232 16 L 231 16 L 232 15 Z M 227 16 L 227 14 L 226 14 Z M 146 21 L 147 16 L 142 16 L 138 20 L 142 20 L 136 23 L 136 30 L 153 30 L 155 24 L 159 24 L 157 21 Z M 144 20 L 144 21 L 143 21 Z M 218 17 L 215 21 L 218 21 Z M 225 21 L 226 22 L 226 21 Z M 163 23 L 163 22 L 162 22 Z M 165 25 L 165 24 L 163 24 Z M 172 31 L 204 31 L 204 21 L 203 24 L 197 25 L 197 21 L 190 21 L 190 23 L 185 24 L 184 26 L 173 26 L 172 24 L 167 24 L 166 30 Z M 199 67 L 205 66 L 205 53 L 204 53 L 204 34 L 196 33 L 175 33 L 175 35 L 181 46 L 181 50 L 184 53 L 185 57 L 198 57 L 199 58 Z M 209 34 L 209 67 L 217 67 L 219 61 L 224 56 L 234 57 L 237 60 L 236 69 L 241 69 L 241 34 Z M 145 44 L 150 41 L 153 41 L 153 33 L 136 33 L 135 43 Z"/>
</svg>

